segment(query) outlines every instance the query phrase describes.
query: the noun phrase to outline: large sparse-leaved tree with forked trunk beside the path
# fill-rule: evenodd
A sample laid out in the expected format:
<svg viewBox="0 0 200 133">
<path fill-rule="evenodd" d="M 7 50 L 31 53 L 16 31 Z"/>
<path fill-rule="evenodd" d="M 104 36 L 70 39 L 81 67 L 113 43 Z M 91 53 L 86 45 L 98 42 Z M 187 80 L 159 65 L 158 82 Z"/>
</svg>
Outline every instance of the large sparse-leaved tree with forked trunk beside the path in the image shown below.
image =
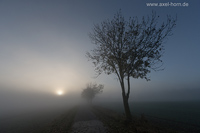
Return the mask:
<svg viewBox="0 0 200 133">
<path fill-rule="evenodd" d="M 126 119 L 132 120 L 128 99 L 130 95 L 130 78 L 142 78 L 149 81 L 151 70 L 162 70 L 161 57 L 163 43 L 172 35 L 176 18 L 167 16 L 166 22 L 158 22 L 159 16 L 152 11 L 151 15 L 130 17 L 125 20 L 119 11 L 112 20 L 95 24 L 89 34 L 96 47 L 86 56 L 95 66 L 98 75 L 115 74 L 122 90 Z M 125 81 L 127 88 L 125 88 Z"/>
</svg>

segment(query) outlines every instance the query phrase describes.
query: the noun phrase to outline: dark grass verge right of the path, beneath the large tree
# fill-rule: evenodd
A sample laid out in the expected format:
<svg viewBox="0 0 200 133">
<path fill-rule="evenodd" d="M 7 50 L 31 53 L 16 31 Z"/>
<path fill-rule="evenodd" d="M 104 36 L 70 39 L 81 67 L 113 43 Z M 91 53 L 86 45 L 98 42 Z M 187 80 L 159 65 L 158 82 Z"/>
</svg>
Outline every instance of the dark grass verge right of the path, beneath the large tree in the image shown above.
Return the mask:
<svg viewBox="0 0 200 133">
<path fill-rule="evenodd" d="M 141 115 L 139 118 L 133 117 L 133 122 L 127 124 L 124 115 L 115 111 L 94 106 L 93 112 L 107 127 L 108 133 L 179 133 L 179 131 L 149 122 L 144 115 Z"/>
</svg>

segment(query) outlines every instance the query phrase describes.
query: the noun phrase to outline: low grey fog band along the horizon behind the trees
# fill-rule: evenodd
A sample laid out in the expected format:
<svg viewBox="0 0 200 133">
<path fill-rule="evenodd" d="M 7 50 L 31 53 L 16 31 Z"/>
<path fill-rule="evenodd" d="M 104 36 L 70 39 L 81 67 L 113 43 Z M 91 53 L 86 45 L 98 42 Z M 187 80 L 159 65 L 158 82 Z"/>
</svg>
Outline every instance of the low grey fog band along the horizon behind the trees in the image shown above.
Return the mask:
<svg viewBox="0 0 200 133">
<path fill-rule="evenodd" d="M 80 92 L 66 92 L 63 95 L 56 94 L 56 90 L 51 93 L 9 90 L 0 91 L 0 116 L 16 115 L 22 113 L 34 113 L 61 110 L 86 102 L 81 98 Z M 144 93 L 145 91 L 145 93 Z M 199 89 L 143 89 L 138 91 L 132 89 L 130 102 L 137 101 L 196 101 L 199 99 Z M 94 99 L 94 104 L 98 103 L 122 103 L 120 87 L 118 89 L 107 89 L 106 86 L 102 94 Z"/>
</svg>

